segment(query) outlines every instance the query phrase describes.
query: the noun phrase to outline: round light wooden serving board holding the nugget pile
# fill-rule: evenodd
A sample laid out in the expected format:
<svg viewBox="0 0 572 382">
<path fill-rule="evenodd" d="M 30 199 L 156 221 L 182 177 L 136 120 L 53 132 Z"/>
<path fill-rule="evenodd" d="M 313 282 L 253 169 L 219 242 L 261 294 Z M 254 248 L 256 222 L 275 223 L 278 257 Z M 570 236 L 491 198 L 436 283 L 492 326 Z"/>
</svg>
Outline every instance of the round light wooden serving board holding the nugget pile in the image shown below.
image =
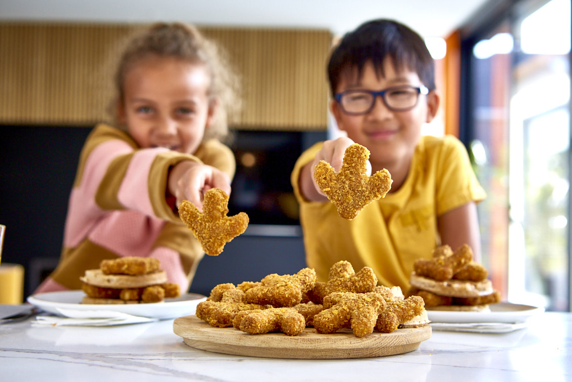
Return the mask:
<svg viewBox="0 0 572 382">
<path fill-rule="evenodd" d="M 358 338 L 351 330 L 332 334 L 306 328 L 297 336 L 284 333 L 248 334 L 234 328 L 213 328 L 196 316 L 176 318 L 173 332 L 196 349 L 238 356 L 284 359 L 345 359 L 381 357 L 414 351 L 431 337 L 431 326 L 374 332 Z"/>
</svg>

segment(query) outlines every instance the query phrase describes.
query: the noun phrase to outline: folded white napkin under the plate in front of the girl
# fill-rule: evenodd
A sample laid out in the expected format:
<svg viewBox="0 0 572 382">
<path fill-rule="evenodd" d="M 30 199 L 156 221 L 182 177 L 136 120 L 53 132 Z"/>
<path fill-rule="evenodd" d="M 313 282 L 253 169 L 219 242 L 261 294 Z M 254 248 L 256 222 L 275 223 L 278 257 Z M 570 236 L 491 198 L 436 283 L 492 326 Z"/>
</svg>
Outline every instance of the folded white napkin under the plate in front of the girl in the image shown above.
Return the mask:
<svg viewBox="0 0 572 382">
<path fill-rule="evenodd" d="M 113 310 L 75 310 L 56 308 L 65 317 L 37 316 L 34 326 L 111 326 L 158 321 L 157 318 L 138 317 Z"/>
</svg>

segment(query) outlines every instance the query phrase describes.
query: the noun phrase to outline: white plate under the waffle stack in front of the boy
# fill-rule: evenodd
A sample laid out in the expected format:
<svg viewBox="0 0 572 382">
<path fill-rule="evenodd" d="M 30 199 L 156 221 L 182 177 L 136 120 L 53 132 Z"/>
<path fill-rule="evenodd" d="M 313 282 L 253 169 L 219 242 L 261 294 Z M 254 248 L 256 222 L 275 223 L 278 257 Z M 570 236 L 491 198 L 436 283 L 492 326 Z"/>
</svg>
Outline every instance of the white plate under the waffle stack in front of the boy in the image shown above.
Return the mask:
<svg viewBox="0 0 572 382">
<path fill-rule="evenodd" d="M 537 306 L 510 304 L 499 302 L 489 305 L 491 312 L 450 312 L 447 310 L 427 310 L 431 322 L 447 322 L 452 324 L 465 324 L 471 322 L 505 322 L 515 324 L 525 322 L 534 314 L 544 312 L 544 308 Z"/>
</svg>

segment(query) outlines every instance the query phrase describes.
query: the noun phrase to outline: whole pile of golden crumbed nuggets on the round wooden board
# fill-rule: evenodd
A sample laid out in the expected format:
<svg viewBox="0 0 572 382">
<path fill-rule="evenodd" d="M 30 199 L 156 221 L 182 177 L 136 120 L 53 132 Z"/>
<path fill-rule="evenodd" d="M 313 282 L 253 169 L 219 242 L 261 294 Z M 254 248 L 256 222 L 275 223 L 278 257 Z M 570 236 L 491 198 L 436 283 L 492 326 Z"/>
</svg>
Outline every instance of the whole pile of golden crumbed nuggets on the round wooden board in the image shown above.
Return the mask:
<svg viewBox="0 0 572 382">
<path fill-rule="evenodd" d="M 404 298 L 398 287 L 377 283 L 370 267 L 356 273 L 351 263 L 340 261 L 331 267 L 326 282 L 316 281 L 315 271 L 304 268 L 293 275 L 269 274 L 259 282 L 219 284 L 198 304 L 196 315 L 217 328 L 288 336 L 312 326 L 323 334 L 349 328 L 356 337 L 420 326 L 407 325 L 426 315 L 423 298 Z"/>
</svg>

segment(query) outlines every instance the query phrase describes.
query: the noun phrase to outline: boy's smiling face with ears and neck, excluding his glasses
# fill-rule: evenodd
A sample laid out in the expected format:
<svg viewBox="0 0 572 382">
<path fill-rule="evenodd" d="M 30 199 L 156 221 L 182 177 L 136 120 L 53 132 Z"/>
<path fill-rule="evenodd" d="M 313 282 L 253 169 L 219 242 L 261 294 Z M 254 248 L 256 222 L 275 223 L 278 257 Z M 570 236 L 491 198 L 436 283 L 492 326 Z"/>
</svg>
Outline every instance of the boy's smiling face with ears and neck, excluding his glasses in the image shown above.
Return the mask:
<svg viewBox="0 0 572 382">
<path fill-rule="evenodd" d="M 409 69 L 396 71 L 392 61 L 385 60 L 382 76 L 376 73 L 368 62 L 358 77 L 357 70 L 341 75 L 337 92 L 351 89 L 365 89 L 375 92 L 391 86 L 423 85 L 417 73 Z M 372 171 L 387 168 L 392 177 L 403 173 L 407 175 L 411 157 L 421 136 L 424 123 L 435 116 L 439 97 L 435 92 L 427 96 L 419 94 L 417 104 L 407 111 L 391 111 L 381 96 L 376 97 L 374 107 L 363 115 L 348 115 L 341 110 L 337 101 L 332 101 L 331 110 L 340 130 L 347 132 L 350 139 L 371 151 Z M 399 183 L 398 183 L 399 184 Z M 395 185 L 397 186 L 397 184 Z"/>
</svg>

